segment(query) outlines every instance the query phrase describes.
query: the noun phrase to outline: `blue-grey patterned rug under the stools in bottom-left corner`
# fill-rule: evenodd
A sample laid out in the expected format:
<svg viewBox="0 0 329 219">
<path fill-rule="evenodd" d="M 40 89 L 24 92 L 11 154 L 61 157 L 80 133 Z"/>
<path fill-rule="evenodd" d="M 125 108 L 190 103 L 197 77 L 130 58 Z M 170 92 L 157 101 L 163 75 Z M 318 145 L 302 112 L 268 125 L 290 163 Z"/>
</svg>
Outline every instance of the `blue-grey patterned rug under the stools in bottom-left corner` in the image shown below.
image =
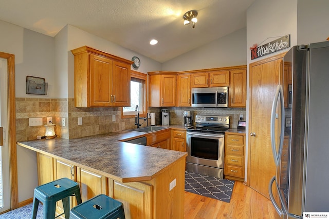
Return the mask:
<svg viewBox="0 0 329 219">
<path fill-rule="evenodd" d="M 1 219 L 27 219 L 32 217 L 32 204 L 17 208 L 4 214 L 0 214 Z M 40 203 L 36 219 L 43 219 L 43 205 Z"/>
</svg>

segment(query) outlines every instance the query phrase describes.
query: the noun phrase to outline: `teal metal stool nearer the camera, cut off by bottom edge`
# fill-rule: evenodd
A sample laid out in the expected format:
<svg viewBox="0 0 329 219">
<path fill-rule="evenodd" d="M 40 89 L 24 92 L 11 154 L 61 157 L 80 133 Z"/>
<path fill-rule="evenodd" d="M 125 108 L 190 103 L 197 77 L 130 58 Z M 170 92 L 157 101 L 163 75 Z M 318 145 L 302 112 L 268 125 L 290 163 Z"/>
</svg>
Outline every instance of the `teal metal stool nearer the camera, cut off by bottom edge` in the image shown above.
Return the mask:
<svg viewBox="0 0 329 219">
<path fill-rule="evenodd" d="M 125 219 L 123 204 L 100 194 L 83 202 L 70 211 L 71 219 Z"/>
</svg>

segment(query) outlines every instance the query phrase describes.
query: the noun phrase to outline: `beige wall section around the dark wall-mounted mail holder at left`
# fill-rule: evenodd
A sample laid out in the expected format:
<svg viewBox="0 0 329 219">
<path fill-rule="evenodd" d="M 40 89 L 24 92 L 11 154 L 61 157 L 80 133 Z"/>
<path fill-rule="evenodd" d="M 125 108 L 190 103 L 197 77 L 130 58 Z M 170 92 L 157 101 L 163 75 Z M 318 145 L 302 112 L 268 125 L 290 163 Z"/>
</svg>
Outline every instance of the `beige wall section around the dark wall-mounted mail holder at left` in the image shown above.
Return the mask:
<svg viewBox="0 0 329 219">
<path fill-rule="evenodd" d="M 22 27 L 0 21 L 0 48 L 15 55 L 16 97 L 55 98 L 54 40 Z M 26 76 L 44 77 L 47 95 L 26 94 Z"/>
</svg>

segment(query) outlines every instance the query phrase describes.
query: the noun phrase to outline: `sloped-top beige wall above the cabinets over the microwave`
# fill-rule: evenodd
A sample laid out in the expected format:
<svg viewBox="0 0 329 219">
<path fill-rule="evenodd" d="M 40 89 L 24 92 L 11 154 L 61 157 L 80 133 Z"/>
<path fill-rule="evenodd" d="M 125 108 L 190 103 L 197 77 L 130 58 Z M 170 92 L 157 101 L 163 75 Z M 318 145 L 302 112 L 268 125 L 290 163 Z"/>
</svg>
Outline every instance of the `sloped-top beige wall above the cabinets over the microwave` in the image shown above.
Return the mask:
<svg viewBox="0 0 329 219">
<path fill-rule="evenodd" d="M 188 71 L 246 65 L 246 28 L 223 36 L 162 64 L 162 70 Z"/>
</svg>

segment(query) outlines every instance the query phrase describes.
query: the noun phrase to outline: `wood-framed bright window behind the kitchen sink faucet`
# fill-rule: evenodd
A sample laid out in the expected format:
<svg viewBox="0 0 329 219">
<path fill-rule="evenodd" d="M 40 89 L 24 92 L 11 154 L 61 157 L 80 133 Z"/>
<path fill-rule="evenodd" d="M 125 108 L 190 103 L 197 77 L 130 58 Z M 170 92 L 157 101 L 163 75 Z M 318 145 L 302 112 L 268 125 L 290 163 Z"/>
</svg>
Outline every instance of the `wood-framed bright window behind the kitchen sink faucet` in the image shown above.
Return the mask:
<svg viewBox="0 0 329 219">
<path fill-rule="evenodd" d="M 137 71 L 131 71 L 130 81 L 130 107 L 122 107 L 121 117 L 135 116 L 136 105 L 138 105 L 139 115 L 145 116 L 146 114 L 146 82 L 147 74 Z"/>
</svg>

